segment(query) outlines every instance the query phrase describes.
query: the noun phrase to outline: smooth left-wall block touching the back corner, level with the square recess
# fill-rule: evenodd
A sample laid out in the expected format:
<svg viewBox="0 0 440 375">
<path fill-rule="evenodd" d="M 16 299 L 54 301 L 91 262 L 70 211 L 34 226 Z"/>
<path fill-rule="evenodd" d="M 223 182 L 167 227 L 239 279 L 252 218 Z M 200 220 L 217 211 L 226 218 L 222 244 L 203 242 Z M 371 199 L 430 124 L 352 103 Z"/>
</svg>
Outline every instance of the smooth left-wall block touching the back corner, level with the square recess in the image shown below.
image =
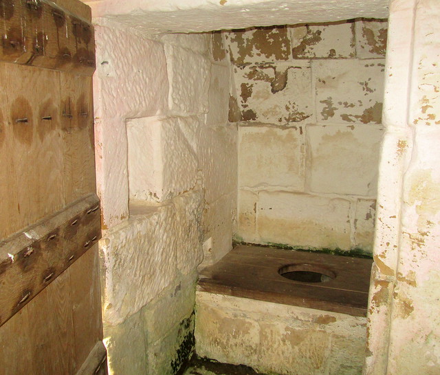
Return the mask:
<svg viewBox="0 0 440 375">
<path fill-rule="evenodd" d="M 202 127 L 199 133 L 199 169 L 203 173 L 205 199 L 217 201 L 223 194 L 236 192 L 236 126 Z"/>
</svg>

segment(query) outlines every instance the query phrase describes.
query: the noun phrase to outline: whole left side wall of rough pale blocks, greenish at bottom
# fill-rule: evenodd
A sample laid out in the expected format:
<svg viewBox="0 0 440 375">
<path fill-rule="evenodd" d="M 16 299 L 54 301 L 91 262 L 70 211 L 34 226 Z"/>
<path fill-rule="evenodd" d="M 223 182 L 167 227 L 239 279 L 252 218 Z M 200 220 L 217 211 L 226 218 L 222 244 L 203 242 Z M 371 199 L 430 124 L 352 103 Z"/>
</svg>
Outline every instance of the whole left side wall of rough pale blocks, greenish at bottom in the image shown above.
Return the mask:
<svg viewBox="0 0 440 375">
<path fill-rule="evenodd" d="M 232 247 L 236 125 L 223 35 L 95 19 L 104 343 L 114 374 L 174 374 L 194 346 L 197 266 Z"/>
</svg>

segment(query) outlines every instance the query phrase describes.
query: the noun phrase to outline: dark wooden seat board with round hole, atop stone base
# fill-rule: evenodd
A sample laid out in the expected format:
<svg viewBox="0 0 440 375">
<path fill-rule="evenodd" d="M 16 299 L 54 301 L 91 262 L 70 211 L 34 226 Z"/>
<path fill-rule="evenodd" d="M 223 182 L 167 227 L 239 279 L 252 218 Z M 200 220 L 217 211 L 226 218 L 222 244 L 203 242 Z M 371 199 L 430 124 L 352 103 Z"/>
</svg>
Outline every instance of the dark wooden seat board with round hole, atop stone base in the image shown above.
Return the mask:
<svg viewBox="0 0 440 375">
<path fill-rule="evenodd" d="M 322 283 L 287 280 L 278 273 L 285 264 L 321 264 L 337 277 Z M 370 272 L 371 260 L 241 246 L 201 271 L 197 288 L 210 293 L 366 316 Z"/>
</svg>

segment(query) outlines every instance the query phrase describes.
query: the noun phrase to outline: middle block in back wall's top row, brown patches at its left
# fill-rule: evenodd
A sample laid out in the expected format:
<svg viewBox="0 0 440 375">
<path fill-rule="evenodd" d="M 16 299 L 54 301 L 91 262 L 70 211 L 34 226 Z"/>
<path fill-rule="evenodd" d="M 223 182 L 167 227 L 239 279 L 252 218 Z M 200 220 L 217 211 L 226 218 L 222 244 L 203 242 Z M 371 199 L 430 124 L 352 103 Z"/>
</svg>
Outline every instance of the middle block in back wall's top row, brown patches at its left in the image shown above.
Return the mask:
<svg viewBox="0 0 440 375">
<path fill-rule="evenodd" d="M 355 34 L 353 21 L 289 27 L 294 58 L 353 58 Z"/>
</svg>

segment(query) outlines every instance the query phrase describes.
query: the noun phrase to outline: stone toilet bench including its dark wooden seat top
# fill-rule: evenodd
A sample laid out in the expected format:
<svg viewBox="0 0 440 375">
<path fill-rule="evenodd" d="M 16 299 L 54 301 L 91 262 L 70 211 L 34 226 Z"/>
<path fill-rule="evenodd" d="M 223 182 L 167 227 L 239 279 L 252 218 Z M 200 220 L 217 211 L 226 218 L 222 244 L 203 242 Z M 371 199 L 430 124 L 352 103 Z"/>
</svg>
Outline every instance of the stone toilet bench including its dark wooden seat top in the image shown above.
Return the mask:
<svg viewBox="0 0 440 375">
<path fill-rule="evenodd" d="M 286 280 L 278 270 L 309 264 L 326 282 Z M 371 260 L 237 247 L 201 273 L 196 352 L 277 374 L 361 374 Z"/>
</svg>

